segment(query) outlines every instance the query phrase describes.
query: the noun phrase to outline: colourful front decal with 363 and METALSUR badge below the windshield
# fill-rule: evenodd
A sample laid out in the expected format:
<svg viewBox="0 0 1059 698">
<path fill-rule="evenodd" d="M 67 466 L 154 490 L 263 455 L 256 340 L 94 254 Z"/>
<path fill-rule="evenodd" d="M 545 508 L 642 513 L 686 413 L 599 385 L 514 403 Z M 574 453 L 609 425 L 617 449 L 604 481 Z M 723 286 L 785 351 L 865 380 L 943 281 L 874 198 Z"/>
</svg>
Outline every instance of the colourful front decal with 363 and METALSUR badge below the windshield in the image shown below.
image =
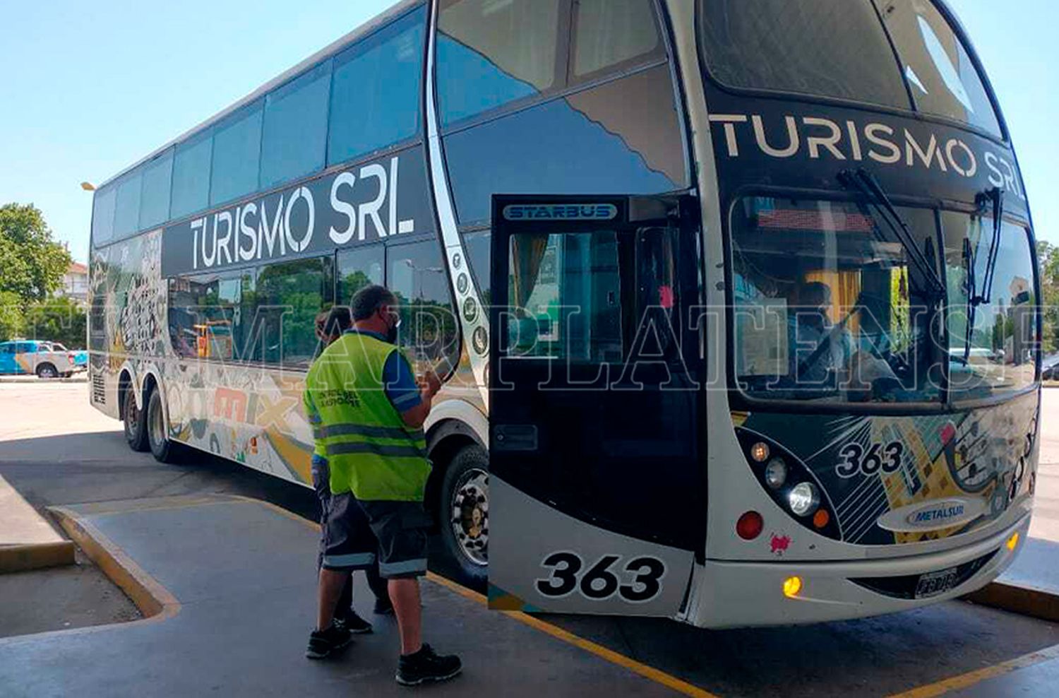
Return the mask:
<svg viewBox="0 0 1059 698">
<path fill-rule="evenodd" d="M 841 540 L 881 545 L 973 531 L 1028 495 L 1037 410 L 1031 393 L 945 415 L 734 412 L 732 419 L 737 431 L 782 446 L 811 471 Z M 772 552 L 784 548 L 773 536 Z"/>
</svg>

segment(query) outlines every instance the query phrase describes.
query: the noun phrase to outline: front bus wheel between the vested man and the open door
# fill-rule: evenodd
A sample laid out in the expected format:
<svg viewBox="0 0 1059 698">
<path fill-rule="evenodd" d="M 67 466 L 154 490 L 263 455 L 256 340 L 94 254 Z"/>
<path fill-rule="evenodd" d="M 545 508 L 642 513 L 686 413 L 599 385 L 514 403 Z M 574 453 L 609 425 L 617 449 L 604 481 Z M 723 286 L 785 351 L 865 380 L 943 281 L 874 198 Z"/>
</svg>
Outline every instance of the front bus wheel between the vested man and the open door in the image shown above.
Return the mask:
<svg viewBox="0 0 1059 698">
<path fill-rule="evenodd" d="M 477 444 L 452 457 L 442 481 L 438 520 L 446 555 L 467 581 L 489 574 L 489 453 Z"/>
</svg>

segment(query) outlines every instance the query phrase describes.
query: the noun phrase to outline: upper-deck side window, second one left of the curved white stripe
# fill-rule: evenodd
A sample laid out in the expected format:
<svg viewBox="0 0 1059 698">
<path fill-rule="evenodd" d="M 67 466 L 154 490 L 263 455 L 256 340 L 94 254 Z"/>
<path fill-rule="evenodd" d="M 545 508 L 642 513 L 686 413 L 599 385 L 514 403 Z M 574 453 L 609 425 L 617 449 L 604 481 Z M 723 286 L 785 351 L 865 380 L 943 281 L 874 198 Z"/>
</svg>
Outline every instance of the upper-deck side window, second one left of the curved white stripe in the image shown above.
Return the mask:
<svg viewBox="0 0 1059 698">
<path fill-rule="evenodd" d="M 261 186 L 323 169 L 330 61 L 265 97 Z"/>
</svg>

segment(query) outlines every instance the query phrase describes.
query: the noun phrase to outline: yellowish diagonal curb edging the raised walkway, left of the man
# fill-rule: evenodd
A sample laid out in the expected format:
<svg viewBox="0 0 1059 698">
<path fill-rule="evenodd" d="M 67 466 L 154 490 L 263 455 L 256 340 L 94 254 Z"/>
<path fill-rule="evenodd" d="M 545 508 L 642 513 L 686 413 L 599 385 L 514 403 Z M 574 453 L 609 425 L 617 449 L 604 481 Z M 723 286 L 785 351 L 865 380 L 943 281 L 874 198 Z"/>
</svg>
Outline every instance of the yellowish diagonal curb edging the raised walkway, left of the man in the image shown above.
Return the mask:
<svg viewBox="0 0 1059 698">
<path fill-rule="evenodd" d="M 180 612 L 180 602 L 132 558 L 76 512 L 62 506 L 48 509 L 85 554 L 125 592 L 144 619 L 164 620 Z"/>
</svg>

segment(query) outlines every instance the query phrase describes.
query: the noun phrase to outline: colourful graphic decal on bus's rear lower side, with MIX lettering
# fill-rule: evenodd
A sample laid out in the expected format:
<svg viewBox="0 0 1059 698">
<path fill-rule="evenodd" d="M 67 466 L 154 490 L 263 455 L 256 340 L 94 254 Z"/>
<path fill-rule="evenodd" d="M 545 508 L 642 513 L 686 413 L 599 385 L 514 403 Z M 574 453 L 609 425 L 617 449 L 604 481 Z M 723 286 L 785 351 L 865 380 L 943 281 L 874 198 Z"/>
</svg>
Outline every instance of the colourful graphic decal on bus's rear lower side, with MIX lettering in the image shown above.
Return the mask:
<svg viewBox="0 0 1059 698">
<path fill-rule="evenodd" d="M 96 252 L 92 402 L 118 416 L 122 372 L 138 381 L 154 372 L 164 387 L 172 439 L 286 480 L 311 482 L 312 434 L 302 413 L 301 374 L 178 357 L 169 342 L 161 254 L 160 232 Z"/>
</svg>

